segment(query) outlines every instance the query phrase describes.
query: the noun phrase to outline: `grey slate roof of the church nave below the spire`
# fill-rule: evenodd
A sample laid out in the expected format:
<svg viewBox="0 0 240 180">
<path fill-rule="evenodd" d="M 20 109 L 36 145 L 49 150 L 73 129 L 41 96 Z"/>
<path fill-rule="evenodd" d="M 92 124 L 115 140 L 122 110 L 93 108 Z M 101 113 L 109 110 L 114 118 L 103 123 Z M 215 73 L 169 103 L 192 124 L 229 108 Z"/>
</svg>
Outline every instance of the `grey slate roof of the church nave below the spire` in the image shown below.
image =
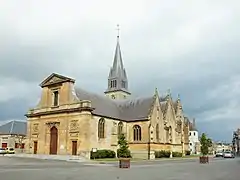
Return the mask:
<svg viewBox="0 0 240 180">
<path fill-rule="evenodd" d="M 90 100 L 95 108 L 94 114 L 121 119 L 125 121 L 135 121 L 148 118 L 155 97 L 112 100 L 108 97 L 94 94 L 80 88 L 75 88 L 75 93 L 79 100 Z"/>
</svg>

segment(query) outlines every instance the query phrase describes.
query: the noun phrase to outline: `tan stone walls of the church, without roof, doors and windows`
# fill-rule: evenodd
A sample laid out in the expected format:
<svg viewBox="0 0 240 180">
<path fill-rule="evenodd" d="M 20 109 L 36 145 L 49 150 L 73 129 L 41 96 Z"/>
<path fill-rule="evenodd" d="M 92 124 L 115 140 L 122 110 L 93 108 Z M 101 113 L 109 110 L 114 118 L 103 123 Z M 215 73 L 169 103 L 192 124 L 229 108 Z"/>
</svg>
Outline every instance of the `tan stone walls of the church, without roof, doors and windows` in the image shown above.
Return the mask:
<svg viewBox="0 0 240 180">
<path fill-rule="evenodd" d="M 89 157 L 92 148 L 116 151 L 119 122 L 123 124 L 122 130 L 126 134 L 133 154 L 140 154 L 139 156 L 146 158 L 150 151 L 155 150 L 178 152 L 188 150 L 189 128 L 184 120 L 179 99 L 173 102 L 168 95 L 165 104 L 161 104 L 156 91 L 149 116 L 144 120 L 131 122 L 125 119 L 97 116 L 92 113 L 94 107 L 91 101 L 76 101 L 73 93 L 74 81 L 56 74 L 52 74 L 49 81 L 57 77 L 63 78 L 62 81 L 43 86 L 39 104 L 26 114 L 29 140 L 26 148 L 29 153 L 50 153 L 52 127 L 56 127 L 58 131 L 57 154 L 72 154 L 73 141 L 77 141 L 78 155 Z M 59 90 L 59 104 L 53 106 L 52 96 L 56 89 Z M 98 137 L 100 119 L 105 121 L 104 138 Z M 141 127 L 139 141 L 134 141 L 135 125 Z"/>
</svg>

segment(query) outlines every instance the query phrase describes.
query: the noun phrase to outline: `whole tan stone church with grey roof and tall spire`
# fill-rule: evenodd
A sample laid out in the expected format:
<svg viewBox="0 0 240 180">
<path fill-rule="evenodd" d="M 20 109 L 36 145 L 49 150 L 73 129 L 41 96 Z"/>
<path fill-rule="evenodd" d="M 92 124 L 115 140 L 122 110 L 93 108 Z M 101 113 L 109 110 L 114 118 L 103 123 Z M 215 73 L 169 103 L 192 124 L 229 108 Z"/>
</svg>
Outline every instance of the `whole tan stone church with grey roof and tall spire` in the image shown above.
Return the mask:
<svg viewBox="0 0 240 180">
<path fill-rule="evenodd" d="M 119 36 L 104 94 L 75 86 L 75 80 L 51 74 L 40 84 L 39 103 L 27 114 L 28 153 L 79 155 L 118 148 L 123 133 L 132 157 L 154 158 L 154 151 L 189 150 L 189 122 L 178 97 L 133 98 L 121 56 Z"/>
</svg>

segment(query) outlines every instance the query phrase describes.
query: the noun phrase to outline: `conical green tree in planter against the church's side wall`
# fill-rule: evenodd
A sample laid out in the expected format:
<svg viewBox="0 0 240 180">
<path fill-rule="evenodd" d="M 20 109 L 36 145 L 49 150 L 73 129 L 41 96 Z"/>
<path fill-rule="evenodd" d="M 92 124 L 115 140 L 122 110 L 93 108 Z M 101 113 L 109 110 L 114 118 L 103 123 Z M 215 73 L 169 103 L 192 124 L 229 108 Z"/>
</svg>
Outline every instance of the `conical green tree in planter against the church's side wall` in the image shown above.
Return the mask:
<svg viewBox="0 0 240 180">
<path fill-rule="evenodd" d="M 118 136 L 118 145 L 119 145 L 119 149 L 117 150 L 117 156 L 119 158 L 129 158 L 131 157 L 131 153 L 130 150 L 128 149 L 128 142 L 125 139 L 124 134 L 120 134 Z"/>
</svg>

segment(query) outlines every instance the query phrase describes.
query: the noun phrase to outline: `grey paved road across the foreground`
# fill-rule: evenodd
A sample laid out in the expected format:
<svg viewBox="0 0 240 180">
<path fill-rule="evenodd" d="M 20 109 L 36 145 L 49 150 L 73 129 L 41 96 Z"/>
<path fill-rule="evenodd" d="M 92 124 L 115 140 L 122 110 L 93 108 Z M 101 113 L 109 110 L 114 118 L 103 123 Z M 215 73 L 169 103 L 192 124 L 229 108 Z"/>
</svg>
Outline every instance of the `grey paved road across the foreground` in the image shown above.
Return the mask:
<svg viewBox="0 0 240 180">
<path fill-rule="evenodd" d="M 0 157 L 0 179 L 29 180 L 239 180 L 240 159 L 133 163 L 130 169 L 110 165 Z"/>
</svg>

